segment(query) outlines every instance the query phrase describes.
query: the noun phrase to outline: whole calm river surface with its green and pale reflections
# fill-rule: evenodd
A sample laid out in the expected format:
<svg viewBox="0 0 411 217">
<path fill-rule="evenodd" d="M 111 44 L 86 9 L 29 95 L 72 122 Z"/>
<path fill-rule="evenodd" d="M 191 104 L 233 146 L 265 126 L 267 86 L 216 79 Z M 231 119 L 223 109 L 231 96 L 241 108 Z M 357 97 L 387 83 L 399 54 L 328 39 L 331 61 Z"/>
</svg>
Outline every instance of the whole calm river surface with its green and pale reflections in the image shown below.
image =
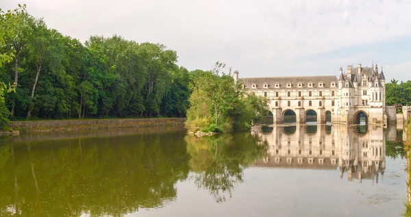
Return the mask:
<svg viewBox="0 0 411 217">
<path fill-rule="evenodd" d="M 401 140 L 347 125 L 0 138 L 0 216 L 398 216 Z"/>
</svg>

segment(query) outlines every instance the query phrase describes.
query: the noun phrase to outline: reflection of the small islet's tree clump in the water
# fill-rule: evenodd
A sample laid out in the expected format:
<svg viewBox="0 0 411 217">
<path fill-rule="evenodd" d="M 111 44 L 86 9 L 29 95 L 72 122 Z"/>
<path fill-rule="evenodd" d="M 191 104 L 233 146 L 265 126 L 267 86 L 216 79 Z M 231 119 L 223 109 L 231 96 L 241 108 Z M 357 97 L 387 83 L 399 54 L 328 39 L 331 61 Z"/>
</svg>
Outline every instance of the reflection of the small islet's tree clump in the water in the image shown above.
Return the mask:
<svg viewBox="0 0 411 217">
<path fill-rule="evenodd" d="M 224 134 L 197 138 L 186 136 L 190 154 L 191 179 L 197 188 L 210 191 L 217 203 L 232 196 L 237 183 L 242 183 L 242 171 L 264 157 L 268 144 L 250 133 Z"/>
</svg>

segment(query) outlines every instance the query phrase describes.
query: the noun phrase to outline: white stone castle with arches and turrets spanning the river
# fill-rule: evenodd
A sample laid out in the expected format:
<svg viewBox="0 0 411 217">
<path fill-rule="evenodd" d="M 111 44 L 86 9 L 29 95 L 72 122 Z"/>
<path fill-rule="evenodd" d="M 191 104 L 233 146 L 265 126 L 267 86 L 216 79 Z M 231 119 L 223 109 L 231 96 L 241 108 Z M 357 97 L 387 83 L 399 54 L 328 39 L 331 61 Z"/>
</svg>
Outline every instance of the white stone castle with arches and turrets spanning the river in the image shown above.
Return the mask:
<svg viewBox="0 0 411 217">
<path fill-rule="evenodd" d="M 238 77 L 248 92 L 269 98 L 269 108 L 274 123 L 283 123 L 284 115 L 295 113 L 297 123 L 306 123 L 307 113 L 317 114 L 317 123 L 325 123 L 326 116 L 332 123 L 366 123 L 384 125 L 395 123 L 395 107 L 386 107 L 386 79 L 377 64 L 371 67 L 347 66 L 340 68 L 337 78 L 330 76 L 306 77 Z"/>
</svg>

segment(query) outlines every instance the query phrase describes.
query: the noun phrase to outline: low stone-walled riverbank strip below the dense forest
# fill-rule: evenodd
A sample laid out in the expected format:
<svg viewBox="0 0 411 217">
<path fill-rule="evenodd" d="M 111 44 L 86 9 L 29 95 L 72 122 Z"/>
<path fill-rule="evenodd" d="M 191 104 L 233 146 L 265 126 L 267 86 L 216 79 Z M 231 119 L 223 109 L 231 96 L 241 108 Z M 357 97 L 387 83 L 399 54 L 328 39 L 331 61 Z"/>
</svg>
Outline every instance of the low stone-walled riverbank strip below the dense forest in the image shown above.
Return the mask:
<svg viewBox="0 0 411 217">
<path fill-rule="evenodd" d="M 186 118 L 124 118 L 90 120 L 27 120 L 11 121 L 12 129 L 4 134 L 48 131 L 76 131 L 88 129 L 137 128 L 155 126 L 184 126 Z"/>
</svg>

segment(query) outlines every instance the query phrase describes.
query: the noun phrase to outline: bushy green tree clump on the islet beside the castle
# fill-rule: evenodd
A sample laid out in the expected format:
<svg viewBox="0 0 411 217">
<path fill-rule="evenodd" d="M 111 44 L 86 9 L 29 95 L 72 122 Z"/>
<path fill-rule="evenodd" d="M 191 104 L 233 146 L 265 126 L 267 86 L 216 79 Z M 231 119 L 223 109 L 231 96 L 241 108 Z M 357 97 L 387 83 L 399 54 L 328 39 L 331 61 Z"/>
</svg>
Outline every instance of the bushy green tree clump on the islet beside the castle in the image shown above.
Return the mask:
<svg viewBox="0 0 411 217">
<path fill-rule="evenodd" d="M 243 92 L 231 72 L 223 73 L 224 64 L 216 63 L 212 71 L 193 71 L 190 88 L 190 109 L 186 127 L 191 131 L 249 129 L 262 119 L 266 99 Z"/>
</svg>

